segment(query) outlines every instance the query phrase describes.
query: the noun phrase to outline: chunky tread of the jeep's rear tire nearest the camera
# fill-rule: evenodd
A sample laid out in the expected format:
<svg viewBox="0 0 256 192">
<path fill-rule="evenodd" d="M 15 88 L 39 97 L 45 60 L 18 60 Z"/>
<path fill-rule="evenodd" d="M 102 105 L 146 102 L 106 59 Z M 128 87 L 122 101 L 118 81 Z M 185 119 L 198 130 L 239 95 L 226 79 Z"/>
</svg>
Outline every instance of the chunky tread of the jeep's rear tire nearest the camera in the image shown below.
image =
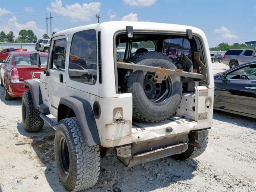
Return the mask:
<svg viewBox="0 0 256 192">
<path fill-rule="evenodd" d="M 68 137 L 72 158 L 72 180 L 69 191 L 80 191 L 96 184 L 100 175 L 100 149 L 98 145 L 88 146 L 84 143 L 82 132 L 75 117 L 60 120 Z M 57 128 L 58 129 L 58 128 Z M 56 155 L 56 154 L 55 154 Z M 56 157 L 57 158 L 57 157 Z"/>
</svg>

